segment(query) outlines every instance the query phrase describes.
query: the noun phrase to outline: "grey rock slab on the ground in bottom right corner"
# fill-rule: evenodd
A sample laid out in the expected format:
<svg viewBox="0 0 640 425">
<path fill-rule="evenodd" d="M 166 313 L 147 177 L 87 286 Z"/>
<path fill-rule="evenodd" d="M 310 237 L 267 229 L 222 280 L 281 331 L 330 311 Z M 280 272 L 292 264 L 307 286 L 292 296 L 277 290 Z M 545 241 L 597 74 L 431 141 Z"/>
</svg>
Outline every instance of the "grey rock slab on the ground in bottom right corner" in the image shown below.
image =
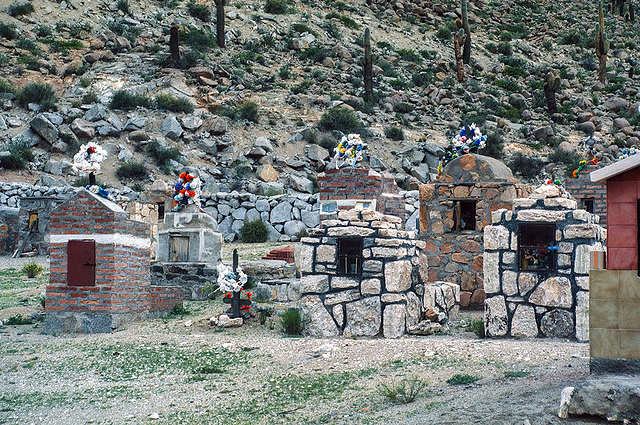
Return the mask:
<svg viewBox="0 0 640 425">
<path fill-rule="evenodd" d="M 610 422 L 640 421 L 640 376 L 603 375 L 562 390 L 558 416 L 590 415 Z"/>
</svg>

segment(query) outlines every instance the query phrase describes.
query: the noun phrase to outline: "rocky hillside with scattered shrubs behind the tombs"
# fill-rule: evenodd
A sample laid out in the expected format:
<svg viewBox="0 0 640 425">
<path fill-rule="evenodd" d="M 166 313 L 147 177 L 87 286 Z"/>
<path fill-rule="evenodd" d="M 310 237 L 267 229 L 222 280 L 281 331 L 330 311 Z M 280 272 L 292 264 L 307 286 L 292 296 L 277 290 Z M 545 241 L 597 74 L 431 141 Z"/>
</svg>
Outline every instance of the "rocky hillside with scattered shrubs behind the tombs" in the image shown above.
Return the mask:
<svg viewBox="0 0 640 425">
<path fill-rule="evenodd" d="M 469 1 L 459 82 L 459 1 L 230 1 L 220 48 L 215 2 L 0 0 L 0 179 L 77 181 L 72 157 L 93 140 L 109 152 L 99 181 L 134 197 L 185 166 L 214 193 L 311 193 L 339 132 L 359 132 L 367 165 L 410 188 L 473 122 L 490 136 L 481 153 L 522 179 L 564 179 L 580 159 L 607 163 L 640 144 L 637 24 L 627 6 L 605 5 L 599 82 L 592 3 Z"/>
</svg>

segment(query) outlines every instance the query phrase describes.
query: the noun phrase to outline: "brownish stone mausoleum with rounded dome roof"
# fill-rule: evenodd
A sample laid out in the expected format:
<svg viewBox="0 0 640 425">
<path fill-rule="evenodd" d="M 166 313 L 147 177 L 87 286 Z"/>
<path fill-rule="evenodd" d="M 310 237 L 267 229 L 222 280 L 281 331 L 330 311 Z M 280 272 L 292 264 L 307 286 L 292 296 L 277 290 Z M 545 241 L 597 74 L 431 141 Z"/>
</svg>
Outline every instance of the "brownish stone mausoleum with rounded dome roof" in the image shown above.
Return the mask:
<svg viewBox="0 0 640 425">
<path fill-rule="evenodd" d="M 512 209 L 526 194 L 509 167 L 483 155 L 449 162 L 436 183 L 420 185 L 420 239 L 426 241 L 429 281 L 460 285 L 460 307 L 483 305 L 483 230 L 491 213 Z"/>
</svg>

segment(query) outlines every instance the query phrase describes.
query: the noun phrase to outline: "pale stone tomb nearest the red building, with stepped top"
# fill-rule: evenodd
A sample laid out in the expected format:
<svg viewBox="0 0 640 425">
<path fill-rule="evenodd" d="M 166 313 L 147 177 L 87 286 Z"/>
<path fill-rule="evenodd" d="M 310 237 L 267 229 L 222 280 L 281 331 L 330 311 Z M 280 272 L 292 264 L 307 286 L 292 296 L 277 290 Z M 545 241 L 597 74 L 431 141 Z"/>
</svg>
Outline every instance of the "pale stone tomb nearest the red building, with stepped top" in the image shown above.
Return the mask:
<svg viewBox="0 0 640 425">
<path fill-rule="evenodd" d="M 484 228 L 487 336 L 589 339 L 590 251 L 602 250 L 597 215 L 551 184 Z"/>
</svg>

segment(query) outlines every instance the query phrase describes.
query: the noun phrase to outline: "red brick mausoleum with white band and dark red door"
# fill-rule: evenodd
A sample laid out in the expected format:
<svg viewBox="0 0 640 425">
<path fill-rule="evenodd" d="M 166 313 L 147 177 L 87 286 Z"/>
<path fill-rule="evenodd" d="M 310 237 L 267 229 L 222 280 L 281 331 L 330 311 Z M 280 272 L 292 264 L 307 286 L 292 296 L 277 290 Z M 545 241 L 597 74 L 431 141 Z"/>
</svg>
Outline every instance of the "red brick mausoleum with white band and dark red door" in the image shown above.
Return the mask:
<svg viewBox="0 0 640 425">
<path fill-rule="evenodd" d="M 110 332 L 166 314 L 178 287 L 149 284 L 149 225 L 86 190 L 51 212 L 45 332 Z"/>
</svg>

